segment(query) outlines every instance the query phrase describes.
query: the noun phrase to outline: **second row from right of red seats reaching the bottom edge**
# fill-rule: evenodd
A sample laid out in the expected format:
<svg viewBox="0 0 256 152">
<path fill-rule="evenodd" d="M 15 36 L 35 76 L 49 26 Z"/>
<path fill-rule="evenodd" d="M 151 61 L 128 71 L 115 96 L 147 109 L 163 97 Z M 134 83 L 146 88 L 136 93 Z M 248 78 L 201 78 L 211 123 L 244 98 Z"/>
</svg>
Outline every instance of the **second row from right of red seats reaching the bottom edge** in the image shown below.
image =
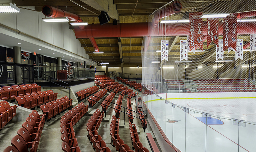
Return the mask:
<svg viewBox="0 0 256 152">
<path fill-rule="evenodd" d="M 119 152 L 134 152 L 131 150 L 131 148 L 124 143 L 124 140 L 122 140 L 119 136 L 119 119 L 116 119 L 116 117 L 113 115 L 112 120 L 110 123 L 110 135 L 111 135 L 111 140 L 113 143 L 112 146 L 116 148 L 116 151 Z"/>
</svg>

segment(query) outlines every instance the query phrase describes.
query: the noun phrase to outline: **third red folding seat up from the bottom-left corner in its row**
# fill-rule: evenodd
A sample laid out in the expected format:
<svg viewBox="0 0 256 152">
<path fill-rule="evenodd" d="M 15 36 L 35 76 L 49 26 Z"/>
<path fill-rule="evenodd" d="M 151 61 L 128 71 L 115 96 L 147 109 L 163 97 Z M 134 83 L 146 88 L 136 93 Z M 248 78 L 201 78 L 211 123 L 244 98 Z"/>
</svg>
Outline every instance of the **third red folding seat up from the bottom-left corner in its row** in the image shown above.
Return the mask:
<svg viewBox="0 0 256 152">
<path fill-rule="evenodd" d="M 31 136 L 30 136 L 29 132 L 27 131 L 27 129 L 25 129 L 23 127 L 20 128 L 17 133 L 18 133 L 19 136 L 21 136 L 25 140 L 25 142 L 27 144 L 27 147 L 32 147 L 32 144 L 35 141 L 36 142 L 36 150 L 37 150 L 39 140 L 40 140 L 39 133 L 36 134 L 35 139 L 31 139 Z"/>
</svg>

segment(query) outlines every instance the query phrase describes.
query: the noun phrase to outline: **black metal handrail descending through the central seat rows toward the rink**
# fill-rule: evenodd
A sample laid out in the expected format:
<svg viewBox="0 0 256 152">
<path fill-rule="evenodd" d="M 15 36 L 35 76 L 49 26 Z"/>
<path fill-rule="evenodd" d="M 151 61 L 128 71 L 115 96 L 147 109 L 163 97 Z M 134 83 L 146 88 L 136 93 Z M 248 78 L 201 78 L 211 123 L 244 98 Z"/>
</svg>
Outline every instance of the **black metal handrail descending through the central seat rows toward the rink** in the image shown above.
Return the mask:
<svg viewBox="0 0 256 152">
<path fill-rule="evenodd" d="M 95 95 L 93 95 L 93 94 L 85 93 L 85 105 L 86 105 L 86 99 L 89 98 L 89 96 L 88 96 L 88 97 L 86 96 L 87 94 L 89 94 L 89 95 L 91 95 L 91 96 L 94 96 L 94 97 L 97 97 L 97 98 L 100 98 L 100 97 L 95 96 Z M 103 99 L 103 98 L 100 98 L 100 99 Z M 92 100 L 92 99 L 90 99 L 90 100 Z M 103 99 L 103 100 L 105 100 L 105 99 Z M 92 100 L 92 101 L 95 101 L 95 100 Z M 111 101 L 109 101 L 109 100 L 105 100 L 105 101 L 108 101 L 108 102 L 110 102 L 110 103 L 113 103 L 113 104 L 115 104 L 115 105 L 118 105 L 118 104 L 116 104 L 116 103 L 114 103 L 114 102 L 111 102 Z M 89 102 L 89 101 L 88 101 L 88 102 Z M 98 103 L 102 104 L 102 103 L 99 102 L 99 101 L 95 101 L 95 102 L 98 102 Z M 104 105 L 105 107 L 108 106 L 108 105 L 106 105 L 106 102 L 104 102 L 103 105 Z M 133 112 L 135 112 L 135 113 L 138 113 L 138 114 L 140 114 L 140 115 L 143 115 L 143 114 L 141 114 L 141 113 L 139 113 L 139 112 L 136 112 L 136 111 L 134 111 L 134 110 L 132 110 L 132 109 L 123 107 L 123 106 L 121 106 L 121 105 L 118 105 L 118 106 L 120 106 L 120 107 L 122 107 L 122 108 L 124 108 L 124 109 L 127 109 L 127 110 L 131 110 L 131 111 L 133 111 Z M 110 107 L 110 106 L 108 106 L 108 107 Z M 113 107 L 110 107 L 110 108 L 113 108 Z M 113 109 L 116 109 L 116 108 L 113 108 Z M 116 109 L 116 110 L 118 110 L 118 109 Z M 128 114 L 128 115 L 130 115 L 130 116 L 133 116 L 133 115 L 131 115 L 131 114 L 129 114 L 129 113 L 126 113 L 126 112 L 124 112 L 124 111 L 121 111 L 121 110 L 118 110 L 118 111 L 124 113 L 124 124 L 125 124 L 125 114 Z M 105 112 L 105 117 L 106 117 L 106 108 L 104 108 L 104 112 Z M 145 115 L 143 115 L 144 119 L 141 119 L 140 117 L 137 117 L 137 116 L 133 116 L 133 117 L 136 117 L 136 118 L 138 118 L 138 119 L 140 119 L 140 120 L 143 120 L 143 122 L 146 123 Z M 144 127 L 144 132 L 145 132 L 145 127 Z"/>
</svg>

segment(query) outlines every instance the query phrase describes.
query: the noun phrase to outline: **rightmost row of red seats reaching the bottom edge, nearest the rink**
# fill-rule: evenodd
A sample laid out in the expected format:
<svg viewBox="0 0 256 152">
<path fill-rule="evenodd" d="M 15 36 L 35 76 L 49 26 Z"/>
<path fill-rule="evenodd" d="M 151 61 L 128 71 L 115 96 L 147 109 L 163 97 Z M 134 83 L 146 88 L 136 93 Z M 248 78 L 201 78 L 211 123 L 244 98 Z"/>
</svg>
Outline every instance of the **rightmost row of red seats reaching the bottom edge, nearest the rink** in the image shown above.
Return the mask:
<svg viewBox="0 0 256 152">
<path fill-rule="evenodd" d="M 130 135 L 131 135 L 131 140 L 133 145 L 132 149 L 135 149 L 135 152 L 149 152 L 149 150 L 143 147 L 142 143 L 140 142 L 136 125 L 132 124 L 130 121 L 129 121 L 129 129 L 130 129 Z"/>
</svg>

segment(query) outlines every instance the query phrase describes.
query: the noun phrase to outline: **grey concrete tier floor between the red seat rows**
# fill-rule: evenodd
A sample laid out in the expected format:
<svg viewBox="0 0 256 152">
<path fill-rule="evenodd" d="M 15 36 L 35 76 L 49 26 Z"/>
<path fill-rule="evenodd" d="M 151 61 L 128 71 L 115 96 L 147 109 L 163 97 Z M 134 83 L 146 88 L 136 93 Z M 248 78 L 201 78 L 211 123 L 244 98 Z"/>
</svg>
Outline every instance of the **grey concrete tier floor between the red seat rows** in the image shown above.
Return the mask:
<svg viewBox="0 0 256 152">
<path fill-rule="evenodd" d="M 125 85 L 125 84 L 124 84 Z M 130 88 L 129 88 L 130 89 Z M 113 101 L 116 102 L 116 99 L 120 93 L 116 95 Z M 108 95 L 108 94 L 107 94 Z M 103 98 L 106 98 L 107 95 L 105 95 Z M 139 93 L 139 96 L 141 93 Z M 131 101 L 132 103 L 135 104 L 135 98 L 132 98 Z M 84 102 L 85 100 L 83 100 Z M 100 100 L 101 102 L 101 100 Z M 85 103 L 85 102 L 84 102 Z M 114 107 L 114 104 L 111 104 L 111 107 Z M 127 101 L 125 99 L 125 96 L 123 98 L 122 106 L 127 107 Z M 92 107 L 92 110 L 99 108 L 100 110 L 102 109 L 100 104 L 97 103 Z M 135 110 L 135 105 L 132 105 L 132 109 Z M 122 108 L 123 110 L 123 108 Z M 38 112 L 41 112 L 41 109 L 38 109 Z M 61 116 L 64 115 L 64 113 L 67 112 L 64 111 L 63 113 L 60 113 L 60 115 L 56 116 L 55 118 L 52 118 L 51 121 L 46 122 L 43 128 L 42 136 L 40 139 L 40 143 L 38 146 L 38 152 L 62 152 L 61 148 L 61 133 L 60 133 L 60 119 Z M 127 110 L 125 110 L 127 112 Z M 112 108 L 108 108 L 107 115 L 110 115 L 110 120 L 112 118 L 112 115 L 115 115 L 115 111 Z M 135 116 L 138 116 L 137 114 L 133 113 Z M 131 143 L 131 138 L 130 138 L 130 133 L 129 133 L 129 123 L 128 123 L 128 116 L 127 114 L 124 115 L 124 113 L 120 114 L 120 120 L 124 121 L 124 116 L 125 116 L 125 125 L 124 128 L 119 128 L 119 135 L 122 140 L 126 144 L 130 146 L 132 149 L 132 143 Z M 93 152 L 93 146 L 91 145 L 89 139 L 87 138 L 88 132 L 86 130 L 86 124 L 88 120 L 90 119 L 91 116 L 87 113 L 80 119 L 80 121 L 74 126 L 74 131 L 76 134 L 76 138 L 78 141 L 78 146 L 80 147 L 82 152 Z M 99 127 L 99 134 L 101 135 L 102 139 L 107 143 L 107 146 L 111 149 L 112 152 L 115 152 L 115 148 L 112 147 L 110 144 L 111 136 L 109 134 L 109 127 L 110 127 L 110 122 L 101 122 L 100 127 Z M 3 151 L 6 147 L 11 145 L 11 140 L 12 138 L 17 135 L 17 131 L 22 127 L 23 122 L 15 122 L 13 123 L 12 121 L 9 122 L 7 126 L 4 126 L 3 130 L 0 131 L 0 151 Z M 134 123 L 137 126 L 137 129 L 140 130 L 140 142 L 143 144 L 144 147 L 148 148 L 149 151 L 151 151 L 150 146 L 148 144 L 148 140 L 146 138 L 146 133 L 144 132 L 143 128 L 141 127 L 140 120 L 137 118 L 134 118 Z M 148 125 L 148 128 L 146 129 L 146 132 L 150 132 L 151 128 Z M 157 142 L 156 142 L 157 143 Z"/>
</svg>

